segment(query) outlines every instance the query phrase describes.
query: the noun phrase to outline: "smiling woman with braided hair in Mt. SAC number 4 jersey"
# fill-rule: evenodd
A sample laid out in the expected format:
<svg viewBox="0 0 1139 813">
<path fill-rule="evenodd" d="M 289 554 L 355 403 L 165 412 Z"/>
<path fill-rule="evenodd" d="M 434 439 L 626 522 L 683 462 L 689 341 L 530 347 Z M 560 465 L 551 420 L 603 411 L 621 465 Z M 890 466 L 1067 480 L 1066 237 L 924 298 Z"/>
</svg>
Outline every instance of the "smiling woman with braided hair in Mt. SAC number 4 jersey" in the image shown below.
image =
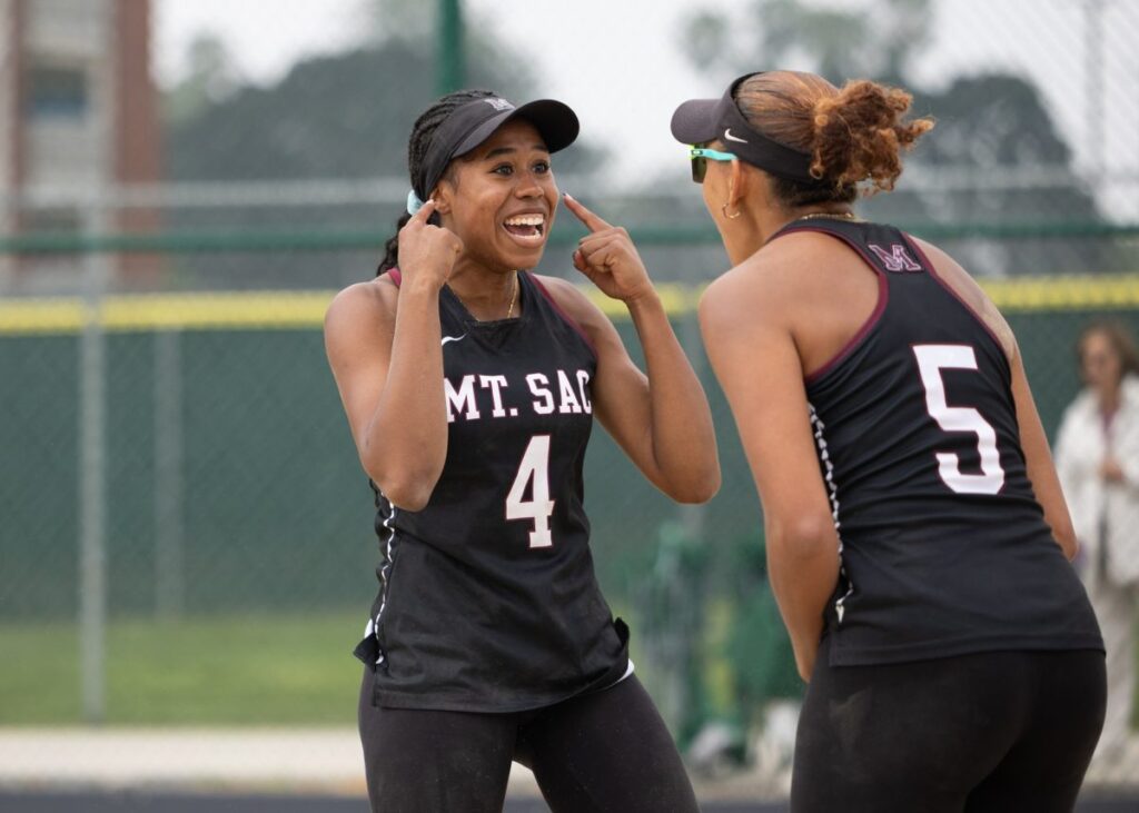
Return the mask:
<svg viewBox="0 0 1139 813">
<path fill-rule="evenodd" d="M 500 811 L 511 761 L 554 811 L 696 810 L 593 575 L 592 417 L 664 493 L 720 470 L 707 402 L 623 229 L 574 266 L 622 301 L 648 375 L 576 287 L 538 277 L 559 195 L 558 101 L 440 99 L 408 149 L 408 213 L 376 280 L 342 291 L 329 362 L 376 493 L 380 588 L 357 655 L 374 810 Z"/>
</svg>

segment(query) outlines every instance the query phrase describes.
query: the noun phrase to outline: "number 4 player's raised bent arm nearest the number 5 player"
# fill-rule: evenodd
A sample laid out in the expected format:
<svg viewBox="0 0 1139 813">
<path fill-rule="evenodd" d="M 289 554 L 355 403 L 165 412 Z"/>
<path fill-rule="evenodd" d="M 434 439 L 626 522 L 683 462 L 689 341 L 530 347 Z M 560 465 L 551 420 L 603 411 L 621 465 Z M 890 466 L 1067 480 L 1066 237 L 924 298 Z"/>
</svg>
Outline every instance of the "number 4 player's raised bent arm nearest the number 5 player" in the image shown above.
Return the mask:
<svg viewBox="0 0 1139 813">
<path fill-rule="evenodd" d="M 720 487 L 720 462 L 704 388 L 628 232 L 568 196 L 566 205 L 590 229 L 574 252 L 574 265 L 629 307 L 648 369 L 646 376 L 637 368 L 613 323 L 581 291 L 549 280 L 558 304 L 597 350 L 598 420 L 661 491 L 679 502 L 705 502 Z"/>
</svg>

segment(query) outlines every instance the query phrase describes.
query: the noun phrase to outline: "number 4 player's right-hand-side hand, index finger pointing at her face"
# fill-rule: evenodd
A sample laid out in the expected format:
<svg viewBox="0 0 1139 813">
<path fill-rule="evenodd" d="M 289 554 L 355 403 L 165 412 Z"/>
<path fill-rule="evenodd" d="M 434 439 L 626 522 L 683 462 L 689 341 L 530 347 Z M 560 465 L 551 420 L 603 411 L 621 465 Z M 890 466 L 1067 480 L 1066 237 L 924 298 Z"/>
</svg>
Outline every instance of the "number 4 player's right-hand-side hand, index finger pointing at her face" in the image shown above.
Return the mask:
<svg viewBox="0 0 1139 813">
<path fill-rule="evenodd" d="M 566 208 L 589 229 L 577 241 L 573 265 L 589 277 L 606 296 L 630 303 L 654 294 L 653 281 L 629 232 L 609 225 L 577 200 L 565 195 Z"/>
</svg>

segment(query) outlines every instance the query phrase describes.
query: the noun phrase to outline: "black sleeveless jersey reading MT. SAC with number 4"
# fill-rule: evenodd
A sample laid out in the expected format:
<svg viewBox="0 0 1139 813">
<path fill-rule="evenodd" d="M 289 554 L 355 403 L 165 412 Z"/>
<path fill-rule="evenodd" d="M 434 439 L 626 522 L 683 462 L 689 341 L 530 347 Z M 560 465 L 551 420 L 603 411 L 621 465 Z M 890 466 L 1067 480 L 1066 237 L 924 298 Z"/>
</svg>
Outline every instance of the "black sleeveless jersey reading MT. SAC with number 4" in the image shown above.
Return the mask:
<svg viewBox="0 0 1139 813">
<path fill-rule="evenodd" d="M 440 294 L 443 473 L 420 511 L 376 491 L 380 589 L 357 656 L 376 664 L 378 705 L 524 711 L 629 667 L 582 504 L 597 358 L 538 280 L 518 281 L 511 320 Z"/>
</svg>

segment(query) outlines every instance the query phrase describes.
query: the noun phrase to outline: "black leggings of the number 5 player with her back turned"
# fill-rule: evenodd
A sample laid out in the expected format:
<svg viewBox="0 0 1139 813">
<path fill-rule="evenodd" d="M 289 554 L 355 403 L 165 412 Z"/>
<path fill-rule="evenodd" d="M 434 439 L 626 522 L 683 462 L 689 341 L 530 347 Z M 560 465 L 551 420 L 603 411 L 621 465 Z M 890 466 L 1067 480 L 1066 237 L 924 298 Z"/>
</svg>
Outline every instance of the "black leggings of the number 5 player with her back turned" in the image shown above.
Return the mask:
<svg viewBox="0 0 1139 813">
<path fill-rule="evenodd" d="M 1104 655 L 828 666 L 803 703 L 793 813 L 1071 811 L 1104 724 Z"/>
</svg>

